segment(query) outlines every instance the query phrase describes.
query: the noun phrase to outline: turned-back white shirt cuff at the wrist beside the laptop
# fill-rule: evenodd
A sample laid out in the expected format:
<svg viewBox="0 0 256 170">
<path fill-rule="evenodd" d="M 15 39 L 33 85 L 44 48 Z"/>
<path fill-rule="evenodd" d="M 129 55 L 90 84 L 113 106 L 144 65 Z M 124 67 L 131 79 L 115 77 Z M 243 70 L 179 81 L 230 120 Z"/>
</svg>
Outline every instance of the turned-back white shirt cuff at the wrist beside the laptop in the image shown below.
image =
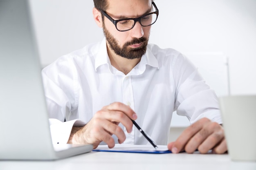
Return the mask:
<svg viewBox="0 0 256 170">
<path fill-rule="evenodd" d="M 49 119 L 52 143 L 67 144 L 73 126 L 84 126 L 85 123 L 79 119 L 62 122 L 58 119 Z"/>
</svg>

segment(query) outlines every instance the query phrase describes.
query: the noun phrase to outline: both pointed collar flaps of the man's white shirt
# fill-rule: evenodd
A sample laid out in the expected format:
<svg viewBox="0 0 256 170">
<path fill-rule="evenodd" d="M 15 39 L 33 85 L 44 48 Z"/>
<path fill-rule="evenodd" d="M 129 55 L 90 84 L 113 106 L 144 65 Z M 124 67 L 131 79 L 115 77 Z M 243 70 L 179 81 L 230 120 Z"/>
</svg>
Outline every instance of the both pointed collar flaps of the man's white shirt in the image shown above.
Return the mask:
<svg viewBox="0 0 256 170">
<path fill-rule="evenodd" d="M 97 71 L 97 68 L 103 64 L 108 64 L 108 68 L 110 71 L 112 71 L 112 66 L 108 57 L 108 51 L 107 51 L 107 44 L 106 44 L 106 38 L 103 38 L 103 40 L 100 42 L 99 46 L 97 46 L 98 49 L 95 49 L 99 51 L 95 55 L 95 71 Z M 149 65 L 152 67 L 157 67 L 159 69 L 158 61 L 153 54 L 153 52 L 150 50 L 150 48 L 147 47 L 146 53 L 141 57 L 141 61 L 139 62 L 139 65 Z"/>
</svg>

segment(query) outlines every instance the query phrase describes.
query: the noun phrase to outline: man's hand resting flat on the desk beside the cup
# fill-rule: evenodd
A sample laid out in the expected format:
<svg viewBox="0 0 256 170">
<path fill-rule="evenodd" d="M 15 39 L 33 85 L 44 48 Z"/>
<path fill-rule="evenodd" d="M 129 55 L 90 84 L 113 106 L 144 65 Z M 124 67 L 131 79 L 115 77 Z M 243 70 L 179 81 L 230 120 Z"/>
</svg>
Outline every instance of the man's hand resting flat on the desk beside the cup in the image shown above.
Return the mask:
<svg viewBox="0 0 256 170">
<path fill-rule="evenodd" d="M 176 141 L 168 144 L 173 153 L 186 151 L 193 153 L 196 149 L 200 153 L 222 154 L 227 151 L 227 143 L 223 127 L 207 118 L 202 118 L 186 128 Z"/>
</svg>

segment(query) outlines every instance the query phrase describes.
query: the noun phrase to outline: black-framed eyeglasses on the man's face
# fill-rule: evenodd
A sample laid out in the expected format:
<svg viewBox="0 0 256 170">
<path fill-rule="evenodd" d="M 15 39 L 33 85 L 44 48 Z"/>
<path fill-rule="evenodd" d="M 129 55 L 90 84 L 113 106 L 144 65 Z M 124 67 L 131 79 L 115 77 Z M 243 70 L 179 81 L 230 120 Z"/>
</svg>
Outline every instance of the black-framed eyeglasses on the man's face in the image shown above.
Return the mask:
<svg viewBox="0 0 256 170">
<path fill-rule="evenodd" d="M 140 16 L 139 18 L 126 18 L 121 20 L 114 20 L 111 18 L 105 11 L 101 10 L 101 13 L 106 16 L 117 28 L 118 31 L 129 31 L 134 27 L 136 22 L 139 22 L 141 26 L 150 26 L 157 21 L 158 9 L 155 5 L 155 2 L 152 2 L 155 7 L 155 12 L 151 12 L 145 15 Z"/>
</svg>

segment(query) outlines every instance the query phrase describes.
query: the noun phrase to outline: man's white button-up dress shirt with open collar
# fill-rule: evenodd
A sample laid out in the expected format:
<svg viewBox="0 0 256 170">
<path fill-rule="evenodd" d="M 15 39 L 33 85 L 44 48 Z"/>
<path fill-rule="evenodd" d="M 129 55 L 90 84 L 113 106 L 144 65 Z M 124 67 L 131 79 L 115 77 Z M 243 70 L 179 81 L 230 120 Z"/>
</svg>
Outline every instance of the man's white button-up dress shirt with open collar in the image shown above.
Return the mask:
<svg viewBox="0 0 256 170">
<path fill-rule="evenodd" d="M 174 110 L 191 123 L 202 117 L 222 123 L 216 94 L 173 49 L 148 44 L 141 61 L 125 75 L 111 65 L 103 39 L 60 57 L 42 75 L 53 143 L 67 143 L 73 125 L 83 126 L 112 102 L 130 106 L 137 124 L 158 145 L 167 144 Z M 119 126 L 126 134 L 124 143 L 149 144 L 135 126 L 131 133 Z"/>
</svg>

